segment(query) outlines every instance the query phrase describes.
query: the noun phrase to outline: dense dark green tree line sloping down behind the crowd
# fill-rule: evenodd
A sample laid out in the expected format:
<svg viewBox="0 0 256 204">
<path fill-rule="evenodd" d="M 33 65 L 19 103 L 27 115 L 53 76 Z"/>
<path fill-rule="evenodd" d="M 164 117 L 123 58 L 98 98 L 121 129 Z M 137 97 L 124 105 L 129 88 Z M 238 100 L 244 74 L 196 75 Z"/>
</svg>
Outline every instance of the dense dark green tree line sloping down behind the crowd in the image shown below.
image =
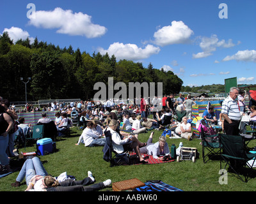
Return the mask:
<svg viewBox="0 0 256 204">
<path fill-rule="evenodd" d="M 108 77 L 114 83 L 124 82 L 163 82 L 163 94 L 179 93 L 182 80 L 172 71 L 155 69 L 150 63 L 143 67 L 141 62 L 122 59 L 116 61 L 115 55 L 109 56 L 60 48 L 52 43 L 29 39 L 13 43 L 8 33 L 0 36 L 0 96 L 10 101 L 24 101 L 25 86 L 20 81 L 28 77 L 28 101 L 38 99 L 93 98 L 96 82 L 108 85 Z M 156 86 L 157 93 L 157 86 Z"/>
</svg>

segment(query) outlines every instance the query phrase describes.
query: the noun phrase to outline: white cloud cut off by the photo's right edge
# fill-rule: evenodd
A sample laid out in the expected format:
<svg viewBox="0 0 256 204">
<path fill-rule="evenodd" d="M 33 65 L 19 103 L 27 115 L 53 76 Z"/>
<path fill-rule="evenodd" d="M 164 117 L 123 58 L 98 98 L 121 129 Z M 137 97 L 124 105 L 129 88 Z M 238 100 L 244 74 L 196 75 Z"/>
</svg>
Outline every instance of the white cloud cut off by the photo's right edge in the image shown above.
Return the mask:
<svg viewBox="0 0 256 204">
<path fill-rule="evenodd" d="M 240 50 L 232 56 L 227 56 L 223 61 L 245 61 L 245 62 L 256 62 L 256 50 Z"/>
</svg>

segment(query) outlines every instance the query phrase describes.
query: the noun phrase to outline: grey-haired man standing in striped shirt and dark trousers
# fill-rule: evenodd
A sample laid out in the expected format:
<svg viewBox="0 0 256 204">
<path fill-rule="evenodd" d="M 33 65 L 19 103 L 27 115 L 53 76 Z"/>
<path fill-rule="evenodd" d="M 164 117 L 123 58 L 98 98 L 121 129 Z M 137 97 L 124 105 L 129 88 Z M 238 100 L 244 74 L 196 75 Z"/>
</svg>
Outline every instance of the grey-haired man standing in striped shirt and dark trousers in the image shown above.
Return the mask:
<svg viewBox="0 0 256 204">
<path fill-rule="evenodd" d="M 236 101 L 239 89 L 231 87 L 228 98 L 222 103 L 221 113 L 224 117 L 224 129 L 227 135 L 239 135 L 241 113 Z"/>
</svg>

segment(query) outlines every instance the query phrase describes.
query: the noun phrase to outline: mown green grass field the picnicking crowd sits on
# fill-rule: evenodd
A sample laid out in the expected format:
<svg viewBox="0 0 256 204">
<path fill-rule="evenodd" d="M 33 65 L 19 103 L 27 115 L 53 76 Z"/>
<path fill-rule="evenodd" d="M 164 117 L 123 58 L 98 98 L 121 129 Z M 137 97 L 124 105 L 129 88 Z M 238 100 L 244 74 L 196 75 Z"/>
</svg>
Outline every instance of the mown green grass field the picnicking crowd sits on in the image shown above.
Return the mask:
<svg viewBox="0 0 256 204">
<path fill-rule="evenodd" d="M 210 160 L 204 164 L 202 159 L 201 140 L 167 138 L 169 147 L 172 143 L 179 146 L 183 142 L 184 147 L 196 147 L 200 153 L 196 162 L 192 161 L 173 161 L 164 164 L 140 164 L 132 166 L 113 166 L 102 159 L 103 147 L 84 147 L 84 145 L 75 145 L 81 130 L 72 128 L 71 136 L 59 138 L 56 141 L 57 152 L 40 157 L 44 163 L 47 172 L 53 176 L 67 171 L 68 175 L 74 175 L 77 180 L 84 179 L 87 171 L 90 170 L 95 176 L 96 182 L 102 182 L 111 179 L 112 182 L 137 178 L 142 182 L 147 180 L 162 180 L 166 184 L 182 189 L 183 191 L 255 191 L 255 179 L 250 179 L 248 183 L 228 174 L 228 183 L 221 185 L 219 183 L 220 161 Z M 153 142 L 157 142 L 163 131 L 155 131 Z M 147 142 L 148 133 L 140 134 L 141 142 Z M 255 147 L 255 142 L 250 143 L 250 147 Z M 26 152 L 35 151 L 36 146 L 32 145 L 26 148 Z M 24 149 L 19 149 L 24 152 Z M 10 184 L 15 182 L 19 171 L 0 179 L 0 191 L 24 191 L 26 189 L 25 180 L 20 187 L 11 187 Z M 102 191 L 111 191 L 111 187 Z"/>
</svg>

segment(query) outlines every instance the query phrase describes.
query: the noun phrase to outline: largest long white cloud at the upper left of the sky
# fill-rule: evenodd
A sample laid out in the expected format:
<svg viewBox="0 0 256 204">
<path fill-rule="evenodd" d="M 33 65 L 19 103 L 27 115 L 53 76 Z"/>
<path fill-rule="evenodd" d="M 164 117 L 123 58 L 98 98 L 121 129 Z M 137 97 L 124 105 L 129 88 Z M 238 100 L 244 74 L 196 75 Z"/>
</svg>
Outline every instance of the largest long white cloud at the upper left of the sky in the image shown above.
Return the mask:
<svg viewBox="0 0 256 204">
<path fill-rule="evenodd" d="M 106 27 L 93 24 L 92 17 L 72 10 L 55 8 L 53 11 L 36 11 L 35 18 L 30 18 L 29 25 L 45 29 L 58 29 L 57 33 L 71 36 L 98 38 L 107 31 Z"/>
</svg>

